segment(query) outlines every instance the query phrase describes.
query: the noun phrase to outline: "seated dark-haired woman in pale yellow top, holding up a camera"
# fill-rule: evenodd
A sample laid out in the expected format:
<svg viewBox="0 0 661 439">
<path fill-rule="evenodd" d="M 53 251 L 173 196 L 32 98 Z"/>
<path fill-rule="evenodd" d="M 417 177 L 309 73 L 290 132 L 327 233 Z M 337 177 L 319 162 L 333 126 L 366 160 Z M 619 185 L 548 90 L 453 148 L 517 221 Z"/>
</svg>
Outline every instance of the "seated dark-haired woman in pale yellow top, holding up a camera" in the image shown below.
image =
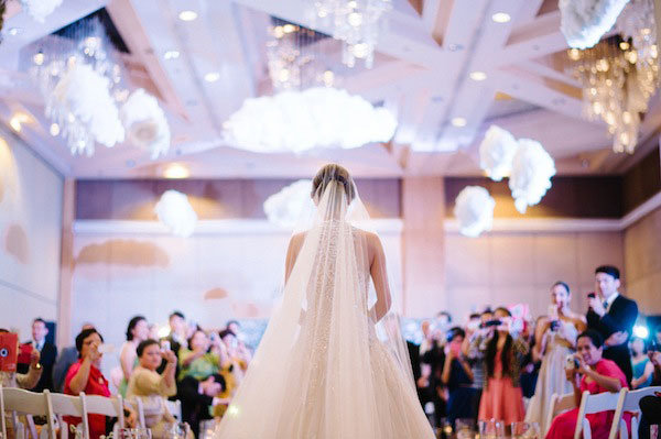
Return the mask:
<svg viewBox="0 0 661 439">
<path fill-rule="evenodd" d="M 136 351 L 140 363 L 131 373 L 127 399 L 140 398 L 144 409 L 144 424 L 152 430 L 152 437 L 165 438 L 170 426 L 175 422 L 165 400 L 176 394 L 176 356 L 170 350 L 162 351 L 159 342 L 153 339 L 140 342 Z M 166 366 L 163 373 L 159 374 L 156 369 L 162 360 L 166 361 Z"/>
</svg>

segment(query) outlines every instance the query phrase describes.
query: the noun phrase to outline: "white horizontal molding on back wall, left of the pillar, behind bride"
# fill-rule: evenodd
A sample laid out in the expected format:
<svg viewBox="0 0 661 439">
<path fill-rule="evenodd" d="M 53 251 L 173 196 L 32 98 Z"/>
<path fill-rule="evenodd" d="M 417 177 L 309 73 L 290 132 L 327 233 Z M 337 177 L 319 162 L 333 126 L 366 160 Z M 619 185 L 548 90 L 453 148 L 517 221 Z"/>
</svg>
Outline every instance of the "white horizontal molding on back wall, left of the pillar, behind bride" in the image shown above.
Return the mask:
<svg viewBox="0 0 661 439">
<path fill-rule="evenodd" d="M 403 228 L 402 220 L 375 219 L 375 230 L 380 234 L 400 234 Z M 76 220 L 74 234 L 82 235 L 171 235 L 170 230 L 159 221 L 130 221 L 130 220 Z M 268 220 L 254 219 L 227 219 L 197 221 L 193 237 L 221 234 L 282 234 L 290 237 L 291 229 L 275 226 Z"/>
</svg>

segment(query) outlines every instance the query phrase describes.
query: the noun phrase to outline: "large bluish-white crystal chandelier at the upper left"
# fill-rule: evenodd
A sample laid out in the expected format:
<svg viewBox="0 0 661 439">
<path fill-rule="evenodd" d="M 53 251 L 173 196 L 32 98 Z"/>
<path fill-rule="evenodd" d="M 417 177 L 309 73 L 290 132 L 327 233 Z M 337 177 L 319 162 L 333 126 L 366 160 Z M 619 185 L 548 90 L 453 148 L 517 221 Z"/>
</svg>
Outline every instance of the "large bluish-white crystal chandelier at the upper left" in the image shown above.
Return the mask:
<svg viewBox="0 0 661 439">
<path fill-rule="evenodd" d="M 129 96 L 98 19 L 61 35 L 48 35 L 23 51 L 22 63 L 35 79 L 51 119 L 51 134 L 65 139 L 72 154 L 94 154 L 95 144 L 113 146 L 124 130 L 119 106 Z"/>
</svg>

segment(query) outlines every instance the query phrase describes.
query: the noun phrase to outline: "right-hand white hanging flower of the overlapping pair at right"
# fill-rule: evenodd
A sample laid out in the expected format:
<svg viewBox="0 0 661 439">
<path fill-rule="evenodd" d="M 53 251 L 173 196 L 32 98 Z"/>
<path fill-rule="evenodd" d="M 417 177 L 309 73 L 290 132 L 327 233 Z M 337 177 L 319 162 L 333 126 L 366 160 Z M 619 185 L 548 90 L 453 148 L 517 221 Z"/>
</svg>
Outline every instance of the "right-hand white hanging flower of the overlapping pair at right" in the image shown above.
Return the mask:
<svg viewBox="0 0 661 439">
<path fill-rule="evenodd" d="M 555 162 L 542 144 L 534 140 L 520 139 L 509 179 L 517 210 L 525 213 L 528 206 L 540 202 L 551 188 L 551 177 L 554 175 Z"/>
</svg>

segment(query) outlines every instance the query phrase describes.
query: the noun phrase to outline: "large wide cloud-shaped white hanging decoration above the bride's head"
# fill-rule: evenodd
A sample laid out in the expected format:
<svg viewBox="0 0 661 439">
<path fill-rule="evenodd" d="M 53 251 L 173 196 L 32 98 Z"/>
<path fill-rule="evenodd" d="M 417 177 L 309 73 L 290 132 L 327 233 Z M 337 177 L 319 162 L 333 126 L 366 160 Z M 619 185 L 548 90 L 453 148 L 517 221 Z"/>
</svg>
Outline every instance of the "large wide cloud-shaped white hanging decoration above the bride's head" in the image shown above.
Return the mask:
<svg viewBox="0 0 661 439">
<path fill-rule="evenodd" d="M 228 140 L 243 150 L 302 152 L 388 142 L 397 120 L 359 96 L 315 87 L 247 99 L 225 127 Z"/>
</svg>

